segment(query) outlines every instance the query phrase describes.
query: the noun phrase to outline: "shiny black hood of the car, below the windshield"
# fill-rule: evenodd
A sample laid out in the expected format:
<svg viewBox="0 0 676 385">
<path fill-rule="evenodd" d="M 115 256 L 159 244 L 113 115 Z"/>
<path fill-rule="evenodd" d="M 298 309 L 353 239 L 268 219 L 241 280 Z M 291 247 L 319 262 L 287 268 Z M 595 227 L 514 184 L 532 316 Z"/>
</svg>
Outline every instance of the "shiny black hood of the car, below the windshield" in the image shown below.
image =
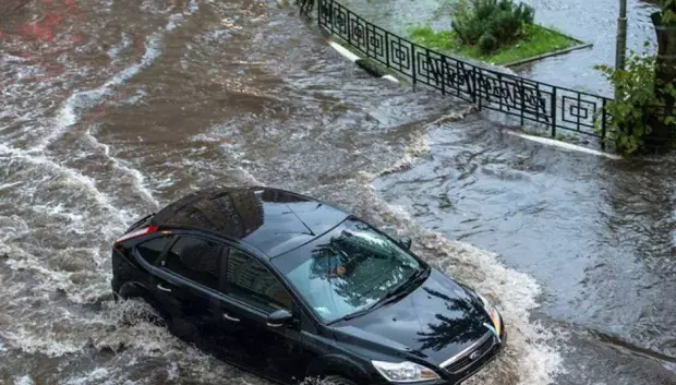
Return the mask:
<svg viewBox="0 0 676 385">
<path fill-rule="evenodd" d="M 438 365 L 490 332 L 479 299 L 432 269 L 427 279 L 397 302 L 334 325 L 338 341 L 355 348 L 412 354 Z"/>
</svg>

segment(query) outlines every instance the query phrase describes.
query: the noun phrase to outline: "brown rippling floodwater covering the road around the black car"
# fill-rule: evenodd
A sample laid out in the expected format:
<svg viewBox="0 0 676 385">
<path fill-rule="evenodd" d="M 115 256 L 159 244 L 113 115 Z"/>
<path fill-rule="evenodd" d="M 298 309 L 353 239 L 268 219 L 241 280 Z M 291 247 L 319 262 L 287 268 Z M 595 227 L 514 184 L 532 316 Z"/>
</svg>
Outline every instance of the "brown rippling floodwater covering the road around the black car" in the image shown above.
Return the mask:
<svg viewBox="0 0 676 385">
<path fill-rule="evenodd" d="M 671 163 L 458 121 L 267 1 L 4 0 L 0 40 L 0 383 L 264 384 L 110 297 L 134 219 L 254 183 L 411 234 L 495 298 L 509 348 L 471 384 L 674 382 Z"/>
</svg>

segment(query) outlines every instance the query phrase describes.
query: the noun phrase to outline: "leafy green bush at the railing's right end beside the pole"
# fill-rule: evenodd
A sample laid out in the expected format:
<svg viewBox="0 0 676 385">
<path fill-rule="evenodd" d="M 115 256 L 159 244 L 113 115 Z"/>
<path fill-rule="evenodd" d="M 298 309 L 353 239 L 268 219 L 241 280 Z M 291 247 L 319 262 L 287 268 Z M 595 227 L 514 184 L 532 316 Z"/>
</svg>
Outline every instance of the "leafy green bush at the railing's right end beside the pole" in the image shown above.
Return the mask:
<svg viewBox="0 0 676 385">
<path fill-rule="evenodd" d="M 608 101 L 605 109 L 611 116 L 606 134 L 617 151 L 630 155 L 642 149 L 655 124 L 664 123 L 676 129 L 674 117 L 655 113 L 655 108 L 664 106 L 665 100 L 655 93 L 656 87 L 663 85 L 655 79 L 654 56 L 630 51 L 624 71 L 607 65 L 596 65 L 595 69 L 601 70 L 616 89 L 615 100 Z M 661 89 L 676 97 L 672 84 Z M 596 120 L 596 130 L 601 130 L 600 119 Z"/>
</svg>

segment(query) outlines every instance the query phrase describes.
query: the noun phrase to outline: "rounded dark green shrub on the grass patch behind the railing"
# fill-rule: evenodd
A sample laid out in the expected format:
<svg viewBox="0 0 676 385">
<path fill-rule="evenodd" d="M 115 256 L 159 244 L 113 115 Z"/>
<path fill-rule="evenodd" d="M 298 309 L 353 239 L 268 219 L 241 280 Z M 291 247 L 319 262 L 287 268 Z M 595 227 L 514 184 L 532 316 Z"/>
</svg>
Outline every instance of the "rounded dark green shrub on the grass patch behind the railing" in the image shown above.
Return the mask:
<svg viewBox="0 0 676 385">
<path fill-rule="evenodd" d="M 532 7 L 514 0 L 461 0 L 451 27 L 464 45 L 490 53 L 522 36 L 523 26 L 532 25 L 534 16 Z"/>
</svg>

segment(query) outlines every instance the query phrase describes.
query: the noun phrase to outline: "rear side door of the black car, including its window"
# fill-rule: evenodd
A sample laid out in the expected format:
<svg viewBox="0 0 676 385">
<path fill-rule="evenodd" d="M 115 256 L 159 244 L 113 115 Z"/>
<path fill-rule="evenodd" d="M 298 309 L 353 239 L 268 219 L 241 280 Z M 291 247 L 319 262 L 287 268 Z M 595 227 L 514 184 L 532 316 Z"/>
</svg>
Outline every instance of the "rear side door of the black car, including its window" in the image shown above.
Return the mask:
<svg viewBox="0 0 676 385">
<path fill-rule="evenodd" d="M 213 322 L 219 304 L 214 291 L 222 276 L 224 244 L 195 236 L 178 236 L 158 261 L 153 277 L 153 290 L 170 316 L 171 332 L 213 350 Z"/>
</svg>

